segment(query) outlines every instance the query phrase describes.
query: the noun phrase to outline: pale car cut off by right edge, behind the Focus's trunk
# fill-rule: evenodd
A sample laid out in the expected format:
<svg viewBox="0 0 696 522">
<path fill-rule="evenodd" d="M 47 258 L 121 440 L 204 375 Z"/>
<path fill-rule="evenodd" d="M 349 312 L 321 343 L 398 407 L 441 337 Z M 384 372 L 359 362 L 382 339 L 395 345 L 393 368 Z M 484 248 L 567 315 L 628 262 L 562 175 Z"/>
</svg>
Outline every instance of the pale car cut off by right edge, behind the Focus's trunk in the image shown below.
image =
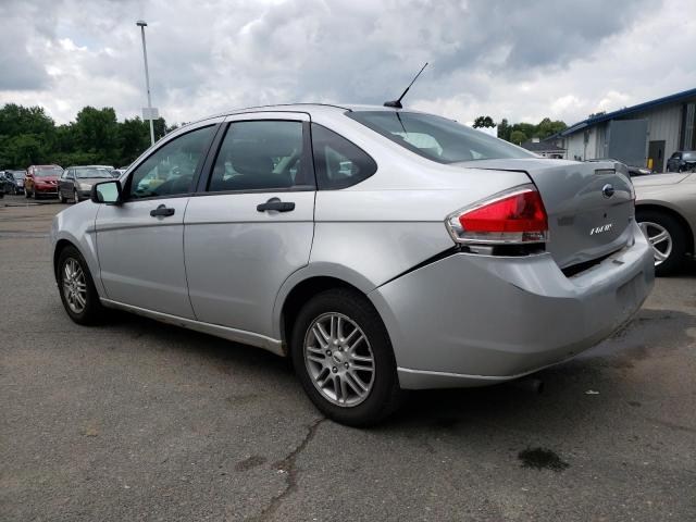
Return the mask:
<svg viewBox="0 0 696 522">
<path fill-rule="evenodd" d="M 635 179 L 635 215 L 655 256 L 655 272 L 676 272 L 696 249 L 696 173 Z"/>
</svg>

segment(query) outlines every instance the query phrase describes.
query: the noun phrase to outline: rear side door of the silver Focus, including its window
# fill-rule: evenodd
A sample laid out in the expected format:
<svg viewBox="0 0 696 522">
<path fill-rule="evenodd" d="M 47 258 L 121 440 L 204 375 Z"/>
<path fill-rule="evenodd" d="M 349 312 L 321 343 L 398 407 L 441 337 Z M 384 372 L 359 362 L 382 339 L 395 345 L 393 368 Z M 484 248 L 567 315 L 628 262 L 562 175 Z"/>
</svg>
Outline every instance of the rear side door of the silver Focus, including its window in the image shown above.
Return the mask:
<svg viewBox="0 0 696 522">
<path fill-rule="evenodd" d="M 186 210 L 191 304 L 200 321 L 270 336 L 278 289 L 312 245 L 309 115 L 236 115 L 219 141 Z"/>
</svg>

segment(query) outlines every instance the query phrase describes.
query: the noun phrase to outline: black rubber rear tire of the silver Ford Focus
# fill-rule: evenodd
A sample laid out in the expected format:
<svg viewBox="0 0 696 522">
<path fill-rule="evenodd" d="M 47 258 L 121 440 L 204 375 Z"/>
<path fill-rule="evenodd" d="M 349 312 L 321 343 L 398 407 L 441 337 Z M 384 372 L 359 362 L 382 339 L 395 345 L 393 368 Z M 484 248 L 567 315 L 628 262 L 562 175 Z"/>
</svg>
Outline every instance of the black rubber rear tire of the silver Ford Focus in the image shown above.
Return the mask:
<svg viewBox="0 0 696 522">
<path fill-rule="evenodd" d="M 312 326 L 315 322 L 327 321 L 332 316 L 341 316 L 343 333 L 350 339 L 352 348 L 341 348 L 334 345 L 332 340 L 323 338 L 323 344 L 313 336 Z M 347 321 L 346 321 L 347 320 Z M 337 321 L 337 320 L 336 320 Z M 361 332 L 352 334 L 352 325 L 359 327 Z M 324 328 L 326 332 L 326 328 Z M 365 340 L 356 343 L 357 336 L 363 334 Z M 338 336 L 336 336 L 338 337 Z M 308 346 L 313 346 L 313 350 L 307 350 L 308 355 L 320 359 L 322 362 L 312 362 L 306 359 L 306 340 Z M 315 340 L 314 340 L 315 339 Z M 332 346 L 334 351 L 330 357 L 327 348 Z M 338 346 L 338 348 L 336 347 Z M 340 350 L 340 352 L 339 352 Z M 372 362 L 356 361 L 352 357 L 361 357 L 361 360 L 372 357 Z M 380 319 L 377 311 L 372 303 L 361 294 L 347 288 L 335 288 L 322 291 L 311 298 L 300 310 L 294 325 L 290 339 L 290 357 L 295 372 L 304 388 L 304 391 L 314 406 L 330 419 L 347 424 L 349 426 L 368 426 L 375 424 L 390 413 L 396 411 L 401 402 L 402 391 L 399 388 L 399 381 L 396 373 L 396 360 L 387 331 Z M 335 359 L 340 358 L 340 359 Z M 346 361 L 346 362 L 341 362 Z M 348 362 L 350 361 L 350 362 Z M 372 373 L 364 372 L 358 368 L 365 364 L 372 366 Z M 345 365 L 345 369 L 341 368 Z M 355 365 L 355 368 L 352 368 Z M 330 368 L 333 366 L 333 374 Z M 340 369 L 340 370 L 338 370 Z M 312 374 L 311 372 L 315 372 Z M 338 372 L 338 373 L 337 373 Z M 333 383 L 336 380 L 344 380 L 344 375 L 351 373 L 359 374 L 363 385 L 369 381 L 369 389 L 362 398 L 358 397 L 358 382 L 352 376 L 347 376 L 344 389 L 344 405 L 337 403 L 337 397 L 333 399 L 326 391 L 320 391 L 315 382 L 323 381 L 326 375 L 331 376 L 331 389 L 336 390 Z M 371 381 L 370 381 L 371 378 Z M 350 384 L 353 383 L 353 384 Z M 339 389 L 341 387 L 338 387 Z M 350 389 L 351 388 L 351 389 Z M 347 393 L 346 393 L 347 391 Z M 352 402 L 352 406 L 350 405 Z"/>
</svg>

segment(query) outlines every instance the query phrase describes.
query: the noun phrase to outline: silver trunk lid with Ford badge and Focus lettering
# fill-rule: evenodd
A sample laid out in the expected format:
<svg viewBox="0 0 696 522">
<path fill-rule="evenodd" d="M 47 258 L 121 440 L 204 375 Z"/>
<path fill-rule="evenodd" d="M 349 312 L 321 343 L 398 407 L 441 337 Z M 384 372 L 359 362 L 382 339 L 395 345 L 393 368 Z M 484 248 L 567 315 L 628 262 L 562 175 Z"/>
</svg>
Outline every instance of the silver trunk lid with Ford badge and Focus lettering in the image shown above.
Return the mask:
<svg viewBox="0 0 696 522">
<path fill-rule="evenodd" d="M 561 269 L 607 256 L 631 237 L 633 187 L 621 163 L 524 158 L 459 165 L 530 176 L 548 214 L 546 250 Z M 613 189 L 610 196 L 608 186 Z"/>
</svg>

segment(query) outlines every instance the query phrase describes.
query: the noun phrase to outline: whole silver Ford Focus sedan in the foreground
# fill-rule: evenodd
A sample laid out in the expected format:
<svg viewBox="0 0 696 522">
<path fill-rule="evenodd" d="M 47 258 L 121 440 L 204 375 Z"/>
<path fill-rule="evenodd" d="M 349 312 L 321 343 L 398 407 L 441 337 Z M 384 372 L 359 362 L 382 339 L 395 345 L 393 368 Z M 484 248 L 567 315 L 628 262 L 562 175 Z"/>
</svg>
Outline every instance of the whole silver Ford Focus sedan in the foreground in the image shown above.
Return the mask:
<svg viewBox="0 0 696 522">
<path fill-rule="evenodd" d="M 55 216 L 67 314 L 290 357 L 330 418 L 576 356 L 654 283 L 629 178 L 431 114 L 319 104 L 186 125 Z"/>
</svg>

